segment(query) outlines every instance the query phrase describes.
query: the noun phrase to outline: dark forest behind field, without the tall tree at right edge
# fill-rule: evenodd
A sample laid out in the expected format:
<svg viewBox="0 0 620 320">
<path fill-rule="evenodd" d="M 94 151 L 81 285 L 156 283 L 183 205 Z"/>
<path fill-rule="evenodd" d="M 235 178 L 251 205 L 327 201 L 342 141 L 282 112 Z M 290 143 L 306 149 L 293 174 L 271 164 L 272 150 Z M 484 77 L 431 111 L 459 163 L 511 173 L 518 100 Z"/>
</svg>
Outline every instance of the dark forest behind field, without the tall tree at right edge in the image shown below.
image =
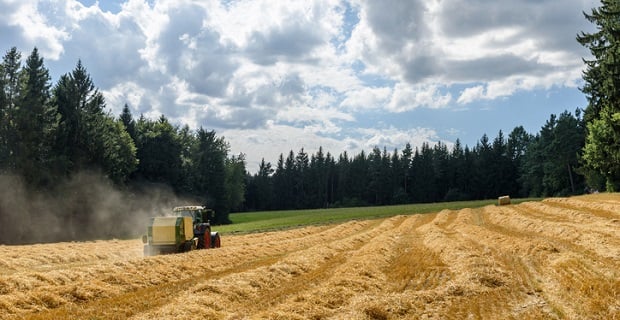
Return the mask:
<svg viewBox="0 0 620 320">
<path fill-rule="evenodd" d="M 567 195 L 584 191 L 579 151 L 581 111 L 552 115 L 535 135 L 516 127 L 508 136 L 483 135 L 473 146 L 442 142 L 402 151 L 332 155 L 303 147 L 263 159 L 249 174 L 244 156 L 214 131 L 171 124 L 165 116 L 134 119 L 129 106 L 106 112 L 102 94 L 78 61 L 53 87 L 35 48 L 24 66 L 12 48 L 2 64 L 0 168 L 29 188 L 53 190 L 83 170 L 100 172 L 118 188 L 166 185 L 214 206 L 218 223 L 243 210 L 389 205 Z M 576 171 L 577 170 L 577 171 Z"/>
</svg>

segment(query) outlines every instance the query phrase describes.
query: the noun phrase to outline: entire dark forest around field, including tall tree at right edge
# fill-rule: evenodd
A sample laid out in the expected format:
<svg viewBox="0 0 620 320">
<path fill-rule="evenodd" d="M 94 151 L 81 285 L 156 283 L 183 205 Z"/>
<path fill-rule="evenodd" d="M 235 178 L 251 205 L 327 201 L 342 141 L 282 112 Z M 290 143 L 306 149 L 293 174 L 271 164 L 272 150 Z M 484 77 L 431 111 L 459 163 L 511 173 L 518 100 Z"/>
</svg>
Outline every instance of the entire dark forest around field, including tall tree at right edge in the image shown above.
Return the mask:
<svg viewBox="0 0 620 320">
<path fill-rule="evenodd" d="M 581 88 L 588 105 L 550 115 L 537 133 L 517 126 L 507 135 L 484 134 L 474 146 L 456 140 L 450 146 L 406 144 L 402 150 L 375 146 L 352 155 L 323 148 L 308 154 L 299 146 L 278 159 L 263 159 L 256 173 L 213 130 L 173 124 L 165 115 L 136 119 L 128 105 L 111 114 L 81 61 L 52 84 L 37 48 L 22 61 L 13 47 L 0 64 L 0 243 L 14 235 L 21 237 L 14 241 L 24 241 L 27 225 L 45 217 L 66 224 L 61 230 L 70 230 L 68 239 L 134 232 L 88 228 L 102 219 L 94 208 L 100 204 L 89 206 L 90 198 L 112 193 L 116 202 L 131 203 L 156 188 L 208 204 L 216 210 L 216 224 L 229 223 L 236 211 L 617 191 L 620 41 L 605 21 L 620 11 L 610 7 L 603 1 L 585 14 L 599 31 L 577 36 L 593 57 L 584 60 Z M 95 181 L 105 187 L 94 187 Z M 31 204 L 32 195 L 44 204 Z M 57 199 L 72 205 L 54 205 Z M 60 209 L 50 209 L 54 206 Z M 107 208 L 114 211 L 107 219 L 123 219 L 135 209 Z M 22 216 L 27 219 L 16 223 Z"/>
</svg>

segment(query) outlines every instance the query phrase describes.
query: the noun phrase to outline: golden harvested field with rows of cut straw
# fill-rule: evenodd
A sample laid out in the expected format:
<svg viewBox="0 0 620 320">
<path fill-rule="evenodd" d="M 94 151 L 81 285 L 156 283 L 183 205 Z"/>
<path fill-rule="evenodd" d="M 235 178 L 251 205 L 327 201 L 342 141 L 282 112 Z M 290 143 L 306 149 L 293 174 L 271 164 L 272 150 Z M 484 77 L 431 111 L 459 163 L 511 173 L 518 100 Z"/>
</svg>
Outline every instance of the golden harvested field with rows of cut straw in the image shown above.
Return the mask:
<svg viewBox="0 0 620 320">
<path fill-rule="evenodd" d="M 0 318 L 620 319 L 620 194 L 229 235 L 0 246 Z"/>
</svg>

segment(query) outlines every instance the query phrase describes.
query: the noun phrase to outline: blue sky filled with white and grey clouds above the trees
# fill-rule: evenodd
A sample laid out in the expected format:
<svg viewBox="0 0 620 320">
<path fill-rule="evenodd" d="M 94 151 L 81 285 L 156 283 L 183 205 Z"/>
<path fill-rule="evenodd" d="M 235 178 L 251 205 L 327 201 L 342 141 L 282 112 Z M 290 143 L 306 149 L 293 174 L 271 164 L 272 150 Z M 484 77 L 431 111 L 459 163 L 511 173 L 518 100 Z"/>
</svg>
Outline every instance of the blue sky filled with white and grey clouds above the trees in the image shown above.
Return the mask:
<svg viewBox="0 0 620 320">
<path fill-rule="evenodd" d="M 536 134 L 585 108 L 591 0 L 0 0 L 0 50 L 78 60 L 120 115 L 215 130 L 262 158 Z"/>
</svg>

